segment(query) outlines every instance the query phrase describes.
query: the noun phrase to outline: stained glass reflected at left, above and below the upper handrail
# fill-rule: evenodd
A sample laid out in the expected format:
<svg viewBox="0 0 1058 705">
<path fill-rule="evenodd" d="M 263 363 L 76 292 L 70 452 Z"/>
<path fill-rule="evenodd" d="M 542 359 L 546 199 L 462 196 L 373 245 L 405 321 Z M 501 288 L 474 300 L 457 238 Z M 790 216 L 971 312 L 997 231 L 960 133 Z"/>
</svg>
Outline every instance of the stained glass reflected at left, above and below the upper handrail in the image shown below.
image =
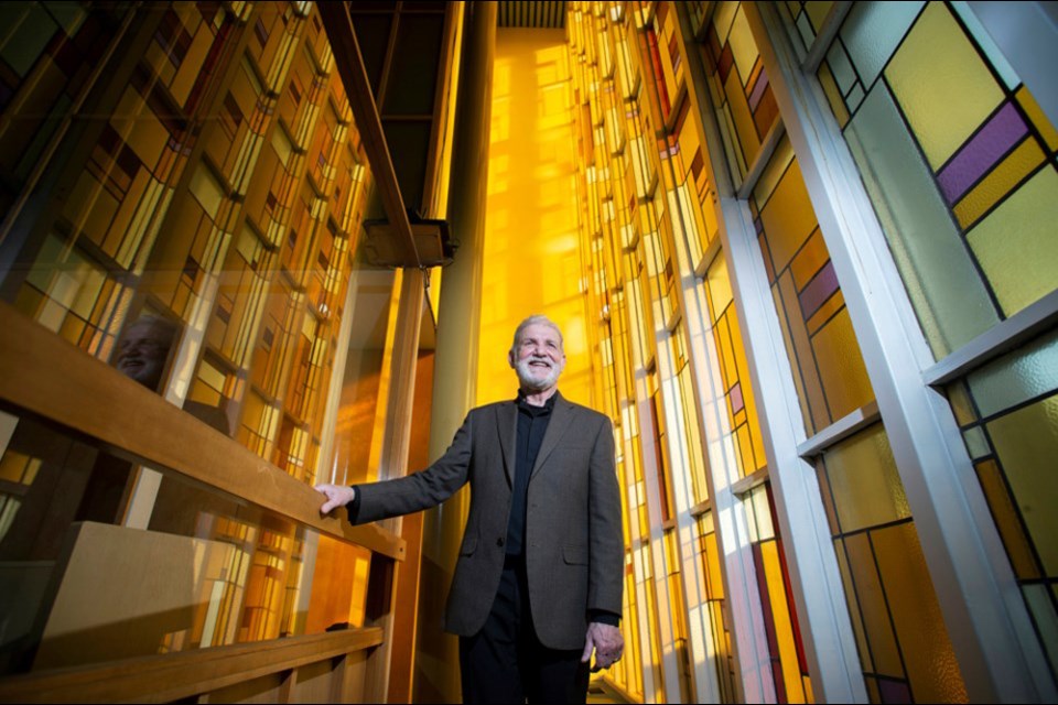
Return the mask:
<svg viewBox="0 0 1058 705">
<path fill-rule="evenodd" d="M 312 482 L 370 185 L 323 25 L 293 3 L 141 10 L 24 3 L 0 41 L 4 119 L 39 123 L 0 134 L 0 296 L 111 362 L 151 314 L 179 373 L 148 386 Z M 2 463 L 19 484 L 33 465 Z M 223 544 L 208 610 L 164 649 L 304 629 L 304 532 L 215 499 L 162 478 L 150 528 Z"/>
</svg>

